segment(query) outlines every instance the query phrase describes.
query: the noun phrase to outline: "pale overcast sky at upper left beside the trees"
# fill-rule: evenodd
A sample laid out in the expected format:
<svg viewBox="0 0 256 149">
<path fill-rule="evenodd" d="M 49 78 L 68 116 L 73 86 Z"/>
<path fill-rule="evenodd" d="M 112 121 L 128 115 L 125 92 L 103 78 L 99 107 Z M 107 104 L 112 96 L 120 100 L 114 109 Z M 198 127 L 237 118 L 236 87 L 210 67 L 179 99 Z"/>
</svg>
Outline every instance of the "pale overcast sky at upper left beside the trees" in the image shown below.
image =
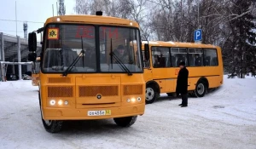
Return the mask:
<svg viewBox="0 0 256 149">
<path fill-rule="evenodd" d="M 56 15 L 57 0 L 1 0 L 0 3 L 0 32 L 9 35 L 16 35 L 15 1 L 17 3 L 17 20 L 45 22 L 52 17 L 52 4 L 54 4 Z M 75 14 L 73 7 L 75 0 L 64 0 L 66 14 Z M 44 26 L 44 23 L 27 22 L 27 32 L 32 32 Z M 23 22 L 17 22 L 18 36 L 24 37 Z"/>
</svg>

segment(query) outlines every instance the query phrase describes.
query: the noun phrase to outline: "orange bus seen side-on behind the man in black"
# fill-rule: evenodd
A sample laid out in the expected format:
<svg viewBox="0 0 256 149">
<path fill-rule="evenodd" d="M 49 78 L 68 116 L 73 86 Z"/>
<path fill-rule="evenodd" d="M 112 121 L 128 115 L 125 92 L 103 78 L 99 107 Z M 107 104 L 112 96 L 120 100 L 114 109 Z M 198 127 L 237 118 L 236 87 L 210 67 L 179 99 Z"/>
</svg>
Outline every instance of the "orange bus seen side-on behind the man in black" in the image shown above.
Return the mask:
<svg viewBox="0 0 256 149">
<path fill-rule="evenodd" d="M 179 63 L 184 61 L 189 70 L 189 94 L 203 97 L 207 89 L 223 83 L 223 61 L 218 46 L 200 43 L 144 42 L 144 79 L 146 103 L 153 103 L 161 93 L 173 95 L 176 91 Z"/>
</svg>

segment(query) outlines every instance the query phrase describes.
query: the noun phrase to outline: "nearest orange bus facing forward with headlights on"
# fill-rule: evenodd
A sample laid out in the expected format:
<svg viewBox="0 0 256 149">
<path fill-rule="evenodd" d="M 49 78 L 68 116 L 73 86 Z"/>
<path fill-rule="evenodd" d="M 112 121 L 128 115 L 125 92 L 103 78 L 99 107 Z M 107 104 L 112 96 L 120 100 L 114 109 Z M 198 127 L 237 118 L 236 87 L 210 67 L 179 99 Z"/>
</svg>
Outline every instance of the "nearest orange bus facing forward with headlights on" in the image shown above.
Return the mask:
<svg viewBox="0 0 256 149">
<path fill-rule="evenodd" d="M 44 27 L 39 103 L 44 128 L 65 120 L 113 118 L 129 127 L 143 115 L 145 81 L 137 22 L 96 15 L 51 17 Z M 29 60 L 36 51 L 29 34 Z"/>
</svg>

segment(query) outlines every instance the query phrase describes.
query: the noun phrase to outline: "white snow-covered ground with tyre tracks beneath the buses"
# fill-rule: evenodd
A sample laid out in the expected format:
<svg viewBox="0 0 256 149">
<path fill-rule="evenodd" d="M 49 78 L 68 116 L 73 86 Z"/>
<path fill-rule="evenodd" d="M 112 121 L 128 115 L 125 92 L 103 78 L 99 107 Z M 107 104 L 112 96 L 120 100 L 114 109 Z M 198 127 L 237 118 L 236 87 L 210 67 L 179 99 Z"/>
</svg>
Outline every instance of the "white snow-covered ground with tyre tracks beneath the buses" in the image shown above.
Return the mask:
<svg viewBox="0 0 256 149">
<path fill-rule="evenodd" d="M 162 95 L 131 128 L 112 119 L 69 121 L 58 134 L 44 130 L 38 87 L 0 83 L 0 148 L 256 148 L 256 79 L 224 77 L 203 98 Z"/>
</svg>

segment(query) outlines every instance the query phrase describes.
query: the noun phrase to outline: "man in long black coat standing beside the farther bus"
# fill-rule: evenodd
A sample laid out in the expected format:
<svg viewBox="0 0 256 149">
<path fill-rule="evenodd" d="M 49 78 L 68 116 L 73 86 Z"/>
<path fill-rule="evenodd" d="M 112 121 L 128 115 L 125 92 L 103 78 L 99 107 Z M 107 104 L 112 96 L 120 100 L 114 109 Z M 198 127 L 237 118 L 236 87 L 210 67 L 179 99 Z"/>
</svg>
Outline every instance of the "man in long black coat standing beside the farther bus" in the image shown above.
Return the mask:
<svg viewBox="0 0 256 149">
<path fill-rule="evenodd" d="M 180 70 L 177 75 L 177 86 L 176 86 L 176 94 L 181 95 L 182 97 L 182 104 L 178 105 L 181 107 L 188 106 L 188 77 L 189 71 L 185 66 L 185 62 L 179 63 Z"/>
</svg>

